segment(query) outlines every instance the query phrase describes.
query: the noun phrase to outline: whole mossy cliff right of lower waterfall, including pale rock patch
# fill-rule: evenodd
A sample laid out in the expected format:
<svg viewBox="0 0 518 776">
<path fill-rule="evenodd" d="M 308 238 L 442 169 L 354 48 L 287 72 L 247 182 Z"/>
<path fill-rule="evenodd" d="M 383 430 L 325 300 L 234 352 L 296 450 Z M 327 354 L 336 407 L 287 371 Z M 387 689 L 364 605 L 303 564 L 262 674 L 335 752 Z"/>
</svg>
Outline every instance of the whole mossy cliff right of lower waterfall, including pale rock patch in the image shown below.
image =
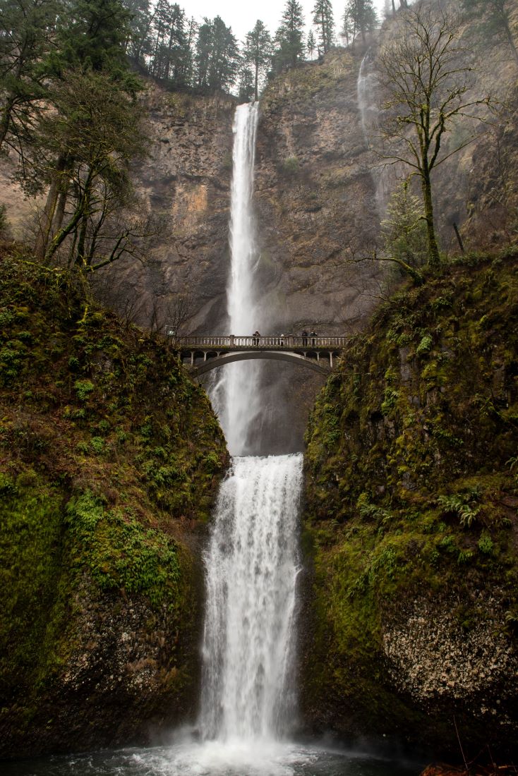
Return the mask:
<svg viewBox="0 0 518 776">
<path fill-rule="evenodd" d="M 402 289 L 307 435 L 311 729 L 475 756 L 518 741 L 518 256 Z"/>
</svg>

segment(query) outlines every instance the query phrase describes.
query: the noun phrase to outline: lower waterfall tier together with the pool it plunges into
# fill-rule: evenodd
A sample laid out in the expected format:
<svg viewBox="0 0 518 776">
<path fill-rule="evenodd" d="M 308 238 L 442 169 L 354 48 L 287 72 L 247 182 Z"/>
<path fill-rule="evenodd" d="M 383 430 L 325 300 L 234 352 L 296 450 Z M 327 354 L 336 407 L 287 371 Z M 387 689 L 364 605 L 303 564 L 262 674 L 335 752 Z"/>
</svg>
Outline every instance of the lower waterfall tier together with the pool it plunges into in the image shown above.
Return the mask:
<svg viewBox="0 0 518 776">
<path fill-rule="evenodd" d="M 4 776 L 416 776 L 415 764 L 286 740 L 294 717 L 302 456 L 235 458 L 205 555 L 203 698 L 167 745 L 2 763 Z M 163 739 L 162 739 L 163 740 Z"/>
</svg>

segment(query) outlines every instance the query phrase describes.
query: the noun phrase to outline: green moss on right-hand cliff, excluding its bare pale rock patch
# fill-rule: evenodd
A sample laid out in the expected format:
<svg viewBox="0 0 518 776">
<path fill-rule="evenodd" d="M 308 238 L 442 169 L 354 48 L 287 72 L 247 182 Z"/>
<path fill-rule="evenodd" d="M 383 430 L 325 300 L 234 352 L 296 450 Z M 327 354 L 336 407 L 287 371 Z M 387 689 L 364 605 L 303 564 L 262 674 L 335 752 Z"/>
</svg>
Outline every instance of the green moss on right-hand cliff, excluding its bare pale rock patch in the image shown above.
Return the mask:
<svg viewBox="0 0 518 776">
<path fill-rule="evenodd" d="M 455 591 L 465 629 L 490 614 L 475 603 L 480 589 L 502 611 L 518 606 L 518 516 L 505 506 L 518 497 L 516 255 L 490 275 L 489 265 L 478 258 L 469 278 L 465 264 L 449 267 L 379 308 L 311 413 L 304 545 L 315 626 L 304 702 L 338 728 L 350 729 L 351 715 L 384 732 L 388 719 L 414 732 L 429 724 L 386 672 L 384 623 L 406 602 Z M 433 725 L 450 740 L 446 724 Z"/>
</svg>

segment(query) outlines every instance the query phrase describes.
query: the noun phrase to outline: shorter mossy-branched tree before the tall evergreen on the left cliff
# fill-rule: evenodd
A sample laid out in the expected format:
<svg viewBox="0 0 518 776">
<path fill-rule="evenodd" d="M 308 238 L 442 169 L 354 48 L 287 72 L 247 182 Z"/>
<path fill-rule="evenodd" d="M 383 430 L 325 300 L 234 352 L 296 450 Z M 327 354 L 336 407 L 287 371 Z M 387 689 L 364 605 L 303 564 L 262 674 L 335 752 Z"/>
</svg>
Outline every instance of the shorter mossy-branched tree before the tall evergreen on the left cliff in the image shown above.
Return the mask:
<svg viewBox="0 0 518 776">
<path fill-rule="evenodd" d="M 127 226 L 114 234 L 110 217 L 127 208 L 132 191 L 129 165 L 144 153 L 137 103 L 109 71 L 68 71 L 54 89 L 54 111 L 37 127 L 43 159 L 67 158 L 68 208 L 45 245 L 52 262 L 68 237 L 68 266 L 83 274 L 120 258 Z M 42 166 L 43 181 L 54 173 Z M 50 172 L 50 175 L 49 175 Z"/>
</svg>

